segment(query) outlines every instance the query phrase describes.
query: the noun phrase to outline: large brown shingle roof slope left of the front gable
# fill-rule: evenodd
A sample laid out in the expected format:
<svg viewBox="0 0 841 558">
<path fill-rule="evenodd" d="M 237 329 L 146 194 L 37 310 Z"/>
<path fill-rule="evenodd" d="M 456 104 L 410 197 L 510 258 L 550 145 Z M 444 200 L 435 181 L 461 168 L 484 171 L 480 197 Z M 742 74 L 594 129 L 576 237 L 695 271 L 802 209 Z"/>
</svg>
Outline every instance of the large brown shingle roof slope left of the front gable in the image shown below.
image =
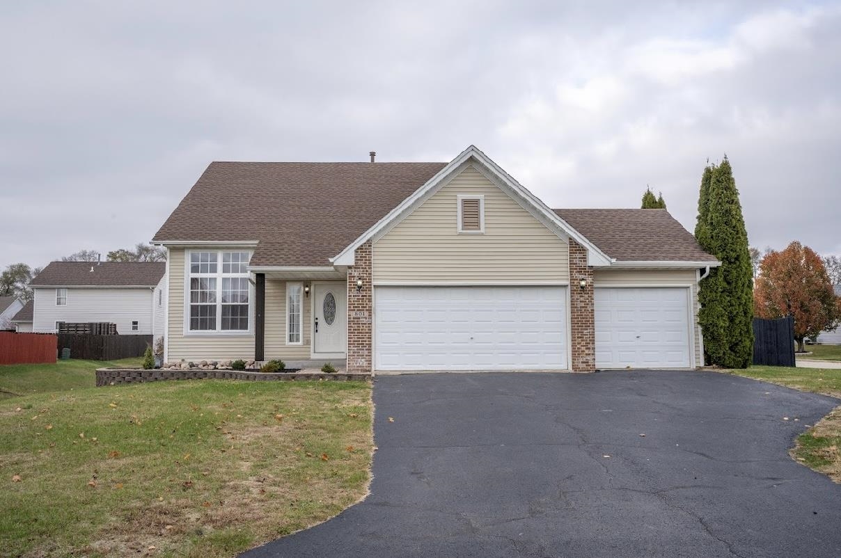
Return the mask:
<svg viewBox="0 0 841 558">
<path fill-rule="evenodd" d="M 154 240 L 259 240 L 252 266 L 329 266 L 444 166 L 214 162 Z"/>
</svg>

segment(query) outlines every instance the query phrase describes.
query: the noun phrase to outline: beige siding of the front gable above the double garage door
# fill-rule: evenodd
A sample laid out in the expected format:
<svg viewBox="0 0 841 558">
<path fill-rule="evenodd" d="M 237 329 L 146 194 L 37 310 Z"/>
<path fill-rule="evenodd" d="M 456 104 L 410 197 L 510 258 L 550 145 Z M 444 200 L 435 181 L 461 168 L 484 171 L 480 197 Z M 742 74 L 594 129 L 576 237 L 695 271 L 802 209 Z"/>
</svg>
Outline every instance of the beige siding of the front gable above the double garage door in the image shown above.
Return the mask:
<svg viewBox="0 0 841 558">
<path fill-rule="evenodd" d="M 484 196 L 484 234 L 458 234 L 458 195 Z M 473 166 L 373 245 L 374 283 L 569 282 L 569 247 Z"/>
</svg>

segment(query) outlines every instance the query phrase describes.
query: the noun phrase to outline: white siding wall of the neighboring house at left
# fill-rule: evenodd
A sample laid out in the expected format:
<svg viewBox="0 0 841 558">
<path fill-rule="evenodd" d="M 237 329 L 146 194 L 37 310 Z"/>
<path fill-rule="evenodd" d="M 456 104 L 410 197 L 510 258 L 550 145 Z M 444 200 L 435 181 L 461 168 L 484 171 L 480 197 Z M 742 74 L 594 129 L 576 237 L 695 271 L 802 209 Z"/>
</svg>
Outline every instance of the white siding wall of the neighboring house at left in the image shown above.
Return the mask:
<svg viewBox="0 0 841 558">
<path fill-rule="evenodd" d="M 56 305 L 56 289 L 34 289 L 33 329 L 56 331 L 56 322 L 109 322 L 123 335 L 152 334 L 152 290 L 141 288 L 68 287 L 67 303 Z M 137 322 L 138 330 L 131 329 Z"/>
</svg>

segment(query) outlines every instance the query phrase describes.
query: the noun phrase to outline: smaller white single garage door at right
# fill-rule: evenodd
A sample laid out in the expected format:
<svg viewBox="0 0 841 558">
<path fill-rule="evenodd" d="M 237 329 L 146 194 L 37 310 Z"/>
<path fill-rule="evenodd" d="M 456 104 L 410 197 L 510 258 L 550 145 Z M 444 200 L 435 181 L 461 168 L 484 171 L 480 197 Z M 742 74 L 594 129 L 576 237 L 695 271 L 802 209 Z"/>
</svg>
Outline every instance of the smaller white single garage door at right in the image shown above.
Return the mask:
<svg viewBox="0 0 841 558">
<path fill-rule="evenodd" d="M 689 289 L 596 287 L 596 368 L 690 367 Z"/>
</svg>

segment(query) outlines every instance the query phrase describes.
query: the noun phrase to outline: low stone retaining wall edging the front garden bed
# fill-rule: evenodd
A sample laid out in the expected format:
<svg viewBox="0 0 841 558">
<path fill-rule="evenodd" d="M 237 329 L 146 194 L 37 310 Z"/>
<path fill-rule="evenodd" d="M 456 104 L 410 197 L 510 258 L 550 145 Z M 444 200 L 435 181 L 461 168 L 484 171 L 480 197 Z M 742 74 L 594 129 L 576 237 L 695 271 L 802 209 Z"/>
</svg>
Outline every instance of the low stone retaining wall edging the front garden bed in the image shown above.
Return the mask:
<svg viewBox="0 0 841 558">
<path fill-rule="evenodd" d="M 291 380 L 339 380 L 366 382 L 370 373 L 335 372 L 248 372 L 237 370 L 203 370 L 189 368 L 161 368 L 145 370 L 142 368 L 98 368 L 97 386 L 114 386 L 124 383 L 160 382 L 162 380 L 248 380 L 251 382 L 283 382 Z"/>
</svg>

